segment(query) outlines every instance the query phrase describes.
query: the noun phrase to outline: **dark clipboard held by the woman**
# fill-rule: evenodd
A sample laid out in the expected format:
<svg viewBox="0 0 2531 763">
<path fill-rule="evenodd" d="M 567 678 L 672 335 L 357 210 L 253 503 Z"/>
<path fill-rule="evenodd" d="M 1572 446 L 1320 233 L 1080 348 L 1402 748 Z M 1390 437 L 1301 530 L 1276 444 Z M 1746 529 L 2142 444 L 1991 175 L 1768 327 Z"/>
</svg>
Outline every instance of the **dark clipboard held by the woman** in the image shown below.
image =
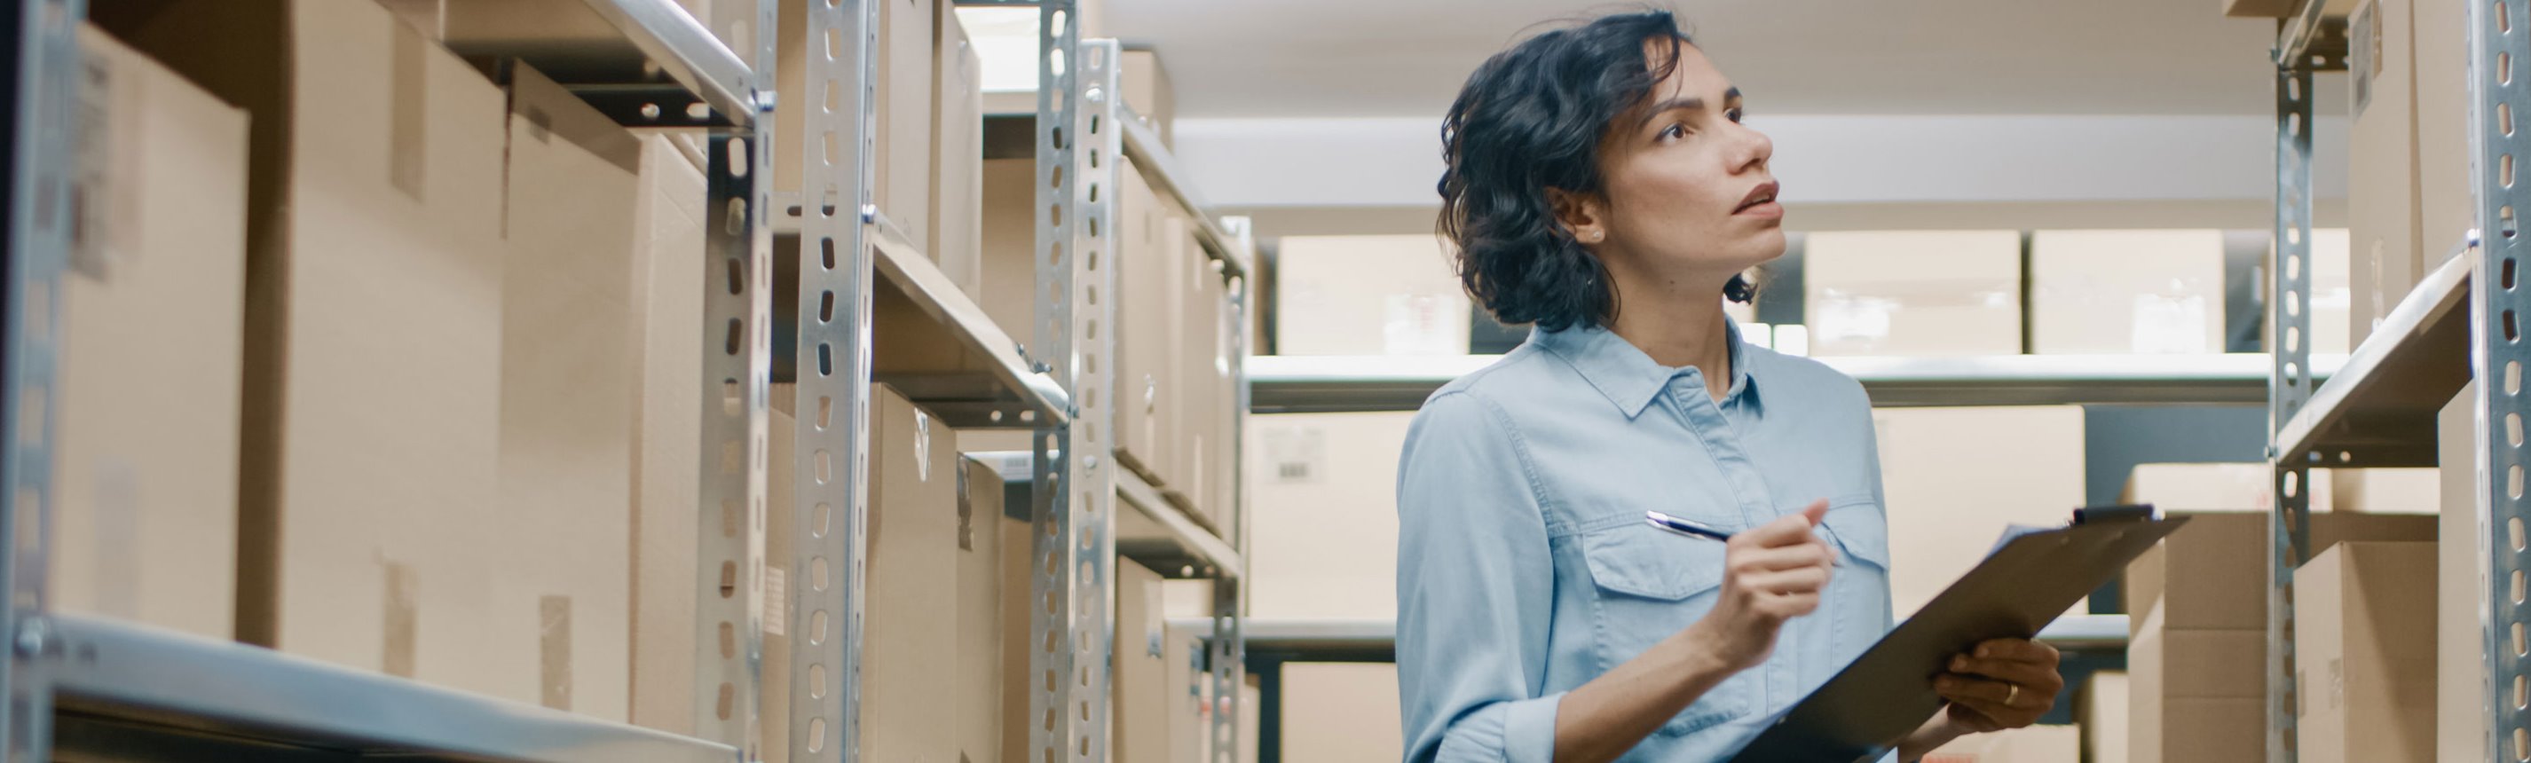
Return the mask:
<svg viewBox="0 0 2531 763">
<path fill-rule="evenodd" d="M 1941 712 L 1934 675 L 1954 654 L 1987 639 L 2035 637 L 2182 523 L 2187 518 L 2156 518 L 2151 505 L 2106 505 L 2075 510 L 2065 528 L 2007 533 L 1987 561 L 1792 705 L 1731 763 L 1886 755 Z"/>
</svg>

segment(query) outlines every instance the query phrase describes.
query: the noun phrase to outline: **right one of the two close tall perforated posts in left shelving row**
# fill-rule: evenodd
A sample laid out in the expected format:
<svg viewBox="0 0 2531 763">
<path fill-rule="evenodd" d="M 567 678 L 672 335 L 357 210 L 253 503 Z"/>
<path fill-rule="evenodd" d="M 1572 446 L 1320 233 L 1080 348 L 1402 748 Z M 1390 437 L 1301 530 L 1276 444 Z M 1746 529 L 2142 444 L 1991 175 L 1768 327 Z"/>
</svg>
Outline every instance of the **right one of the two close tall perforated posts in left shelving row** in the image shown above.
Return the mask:
<svg viewBox="0 0 2531 763">
<path fill-rule="evenodd" d="M 861 644 L 871 531 L 871 243 L 878 3 L 807 3 L 802 114 L 797 452 L 792 495 L 792 760 L 861 758 Z"/>
</svg>

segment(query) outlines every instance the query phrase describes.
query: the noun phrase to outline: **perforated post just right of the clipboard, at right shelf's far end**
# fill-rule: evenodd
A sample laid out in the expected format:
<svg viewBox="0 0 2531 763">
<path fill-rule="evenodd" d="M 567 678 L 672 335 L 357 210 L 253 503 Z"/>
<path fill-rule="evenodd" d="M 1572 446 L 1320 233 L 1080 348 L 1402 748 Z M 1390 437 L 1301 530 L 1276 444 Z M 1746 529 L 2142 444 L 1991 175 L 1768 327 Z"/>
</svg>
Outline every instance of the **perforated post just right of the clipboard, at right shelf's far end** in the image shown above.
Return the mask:
<svg viewBox="0 0 2531 763">
<path fill-rule="evenodd" d="M 2275 263 L 2270 263 L 2268 442 L 2311 402 L 2311 68 L 2275 68 Z M 2270 445 L 2280 447 L 2280 445 Z M 2311 462 L 2270 452 L 2268 513 L 2268 760 L 2293 763 L 2293 568 L 2311 556 Z"/>
</svg>

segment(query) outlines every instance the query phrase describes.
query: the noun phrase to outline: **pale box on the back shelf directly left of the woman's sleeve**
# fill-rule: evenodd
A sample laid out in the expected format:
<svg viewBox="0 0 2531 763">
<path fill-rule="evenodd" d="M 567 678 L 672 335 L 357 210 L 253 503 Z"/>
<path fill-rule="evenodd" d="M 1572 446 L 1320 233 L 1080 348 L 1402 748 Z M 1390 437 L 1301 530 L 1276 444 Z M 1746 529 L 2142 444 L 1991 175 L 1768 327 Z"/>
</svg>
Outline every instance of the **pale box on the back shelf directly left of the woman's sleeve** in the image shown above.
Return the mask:
<svg viewBox="0 0 2531 763">
<path fill-rule="evenodd" d="M 1412 419 L 1248 419 L 1248 616 L 1397 616 L 1397 450 Z"/>
</svg>

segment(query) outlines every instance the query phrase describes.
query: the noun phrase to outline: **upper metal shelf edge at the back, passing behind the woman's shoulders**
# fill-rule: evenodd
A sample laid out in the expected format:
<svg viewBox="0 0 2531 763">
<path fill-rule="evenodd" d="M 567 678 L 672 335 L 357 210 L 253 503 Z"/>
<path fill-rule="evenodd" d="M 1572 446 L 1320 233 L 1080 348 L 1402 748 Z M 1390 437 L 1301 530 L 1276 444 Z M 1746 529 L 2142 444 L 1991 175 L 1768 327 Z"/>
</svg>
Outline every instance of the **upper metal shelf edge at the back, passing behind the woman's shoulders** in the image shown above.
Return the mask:
<svg viewBox="0 0 2531 763">
<path fill-rule="evenodd" d="M 1258 356 L 1255 412 L 1410 412 L 1498 356 Z M 2265 402 L 2268 356 L 1817 359 L 1875 407 Z M 2344 359 L 2321 356 L 2321 376 Z M 2432 419 L 2432 412 L 2427 412 Z"/>
</svg>

